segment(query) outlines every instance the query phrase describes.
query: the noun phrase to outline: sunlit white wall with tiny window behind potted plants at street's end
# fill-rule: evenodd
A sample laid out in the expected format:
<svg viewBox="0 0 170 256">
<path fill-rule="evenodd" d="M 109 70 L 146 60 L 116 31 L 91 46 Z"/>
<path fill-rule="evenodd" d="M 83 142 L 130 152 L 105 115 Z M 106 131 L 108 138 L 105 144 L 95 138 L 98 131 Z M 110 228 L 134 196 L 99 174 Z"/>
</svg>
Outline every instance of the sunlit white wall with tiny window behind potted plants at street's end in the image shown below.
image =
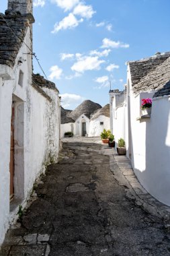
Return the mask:
<svg viewBox="0 0 170 256">
<path fill-rule="evenodd" d="M 100 125 L 100 122 L 103 122 L 103 125 Z M 90 120 L 89 123 L 89 137 L 97 137 L 100 136 L 103 129 L 110 129 L 110 117 L 105 117 L 101 115 L 97 117 L 97 119 Z"/>
</svg>

